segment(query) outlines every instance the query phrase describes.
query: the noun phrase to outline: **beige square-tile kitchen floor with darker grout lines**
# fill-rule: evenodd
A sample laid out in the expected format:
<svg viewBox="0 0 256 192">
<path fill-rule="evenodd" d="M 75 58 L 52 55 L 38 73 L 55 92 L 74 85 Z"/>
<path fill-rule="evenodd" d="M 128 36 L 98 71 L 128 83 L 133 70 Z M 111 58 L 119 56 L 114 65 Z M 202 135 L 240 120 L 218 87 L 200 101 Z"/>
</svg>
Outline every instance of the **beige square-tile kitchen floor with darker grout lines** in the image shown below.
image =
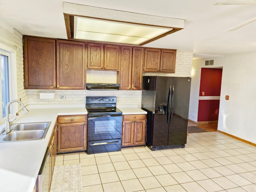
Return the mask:
<svg viewBox="0 0 256 192">
<path fill-rule="evenodd" d="M 256 192 L 256 147 L 220 132 L 189 134 L 185 148 L 56 157 L 76 163 L 83 192 Z"/>
</svg>

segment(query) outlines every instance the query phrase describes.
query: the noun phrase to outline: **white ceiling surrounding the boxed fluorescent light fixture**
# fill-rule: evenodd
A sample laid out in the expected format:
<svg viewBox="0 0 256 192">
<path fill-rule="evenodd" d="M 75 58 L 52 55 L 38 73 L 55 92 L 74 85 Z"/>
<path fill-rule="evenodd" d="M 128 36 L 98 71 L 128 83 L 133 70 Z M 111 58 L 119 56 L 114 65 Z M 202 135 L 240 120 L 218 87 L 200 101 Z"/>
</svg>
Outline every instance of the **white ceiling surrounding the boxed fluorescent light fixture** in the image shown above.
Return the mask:
<svg viewBox="0 0 256 192">
<path fill-rule="evenodd" d="M 144 46 L 193 52 L 194 58 L 256 51 L 256 5 L 214 5 L 222 0 L 65 0 L 140 14 L 185 20 L 185 28 Z M 0 21 L 23 35 L 67 39 L 63 0 L 0 0 Z"/>
</svg>

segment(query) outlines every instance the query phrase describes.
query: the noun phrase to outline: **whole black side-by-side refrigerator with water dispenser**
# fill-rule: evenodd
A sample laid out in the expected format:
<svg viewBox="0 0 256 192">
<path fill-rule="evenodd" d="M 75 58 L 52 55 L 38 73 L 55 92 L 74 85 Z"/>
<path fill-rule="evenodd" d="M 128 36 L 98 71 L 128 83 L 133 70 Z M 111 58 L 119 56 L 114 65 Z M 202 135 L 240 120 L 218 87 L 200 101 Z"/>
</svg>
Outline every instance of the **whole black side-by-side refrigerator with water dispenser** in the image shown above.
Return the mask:
<svg viewBox="0 0 256 192">
<path fill-rule="evenodd" d="M 146 146 L 185 147 L 191 78 L 143 76 L 142 109 L 147 111 Z"/>
</svg>

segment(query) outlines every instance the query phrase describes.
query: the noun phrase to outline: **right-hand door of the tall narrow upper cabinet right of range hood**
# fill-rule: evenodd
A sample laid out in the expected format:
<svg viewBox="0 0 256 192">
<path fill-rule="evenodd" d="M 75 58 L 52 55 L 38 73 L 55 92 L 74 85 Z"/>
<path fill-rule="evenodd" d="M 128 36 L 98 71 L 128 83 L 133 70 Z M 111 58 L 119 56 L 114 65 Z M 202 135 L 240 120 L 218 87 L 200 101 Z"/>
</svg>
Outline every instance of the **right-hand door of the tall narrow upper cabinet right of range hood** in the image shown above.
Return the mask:
<svg viewBox="0 0 256 192">
<path fill-rule="evenodd" d="M 132 90 L 142 89 L 144 48 L 134 47 L 132 54 Z"/>
</svg>

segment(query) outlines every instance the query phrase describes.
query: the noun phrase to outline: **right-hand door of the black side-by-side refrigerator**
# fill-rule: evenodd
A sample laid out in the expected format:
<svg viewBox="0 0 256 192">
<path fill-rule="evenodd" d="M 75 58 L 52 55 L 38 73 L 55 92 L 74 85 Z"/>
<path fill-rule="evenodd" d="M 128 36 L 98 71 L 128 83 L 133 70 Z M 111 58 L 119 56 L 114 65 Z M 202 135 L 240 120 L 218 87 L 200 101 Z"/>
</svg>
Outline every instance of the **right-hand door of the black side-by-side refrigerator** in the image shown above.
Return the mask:
<svg viewBox="0 0 256 192">
<path fill-rule="evenodd" d="M 191 78 L 174 77 L 168 145 L 186 144 Z"/>
</svg>

